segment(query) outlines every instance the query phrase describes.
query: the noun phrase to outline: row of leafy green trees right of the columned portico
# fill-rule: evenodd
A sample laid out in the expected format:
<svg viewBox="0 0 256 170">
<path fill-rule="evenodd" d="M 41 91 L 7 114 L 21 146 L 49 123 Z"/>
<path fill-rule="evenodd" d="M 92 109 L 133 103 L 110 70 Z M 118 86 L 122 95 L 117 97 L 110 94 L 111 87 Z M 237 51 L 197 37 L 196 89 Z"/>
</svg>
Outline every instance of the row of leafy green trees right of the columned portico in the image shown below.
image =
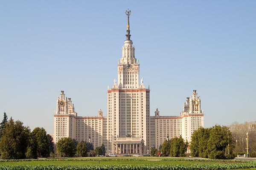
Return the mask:
<svg viewBox="0 0 256 170">
<path fill-rule="evenodd" d="M 181 136 L 165 140 L 159 150 L 151 148 L 151 156 L 181 157 L 190 154 L 209 159 L 232 159 L 235 157 L 233 150 L 233 136 L 229 127 L 215 125 L 195 130 L 190 143 Z"/>
</svg>

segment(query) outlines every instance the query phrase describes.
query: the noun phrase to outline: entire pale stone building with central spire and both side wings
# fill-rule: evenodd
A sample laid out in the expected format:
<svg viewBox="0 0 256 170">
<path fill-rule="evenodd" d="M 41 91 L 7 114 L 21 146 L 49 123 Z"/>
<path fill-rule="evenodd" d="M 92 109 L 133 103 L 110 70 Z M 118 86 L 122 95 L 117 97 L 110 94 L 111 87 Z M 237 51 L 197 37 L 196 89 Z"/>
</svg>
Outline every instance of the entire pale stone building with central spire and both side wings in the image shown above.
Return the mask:
<svg viewBox="0 0 256 170">
<path fill-rule="evenodd" d="M 150 116 L 150 89 L 140 79 L 140 63 L 130 34 L 131 11 L 126 11 L 126 40 L 122 46 L 122 58 L 117 64 L 117 80 L 108 88 L 108 114 L 103 116 L 78 116 L 71 98 L 61 91 L 54 113 L 54 143 L 63 137 L 78 142 L 91 142 L 94 148 L 106 147 L 106 153 L 141 154 L 159 148 L 166 139 L 181 136 L 191 141 L 191 135 L 204 127 L 204 112 L 196 90 L 186 98 L 180 116 L 160 116 L 156 109 Z"/>
</svg>

